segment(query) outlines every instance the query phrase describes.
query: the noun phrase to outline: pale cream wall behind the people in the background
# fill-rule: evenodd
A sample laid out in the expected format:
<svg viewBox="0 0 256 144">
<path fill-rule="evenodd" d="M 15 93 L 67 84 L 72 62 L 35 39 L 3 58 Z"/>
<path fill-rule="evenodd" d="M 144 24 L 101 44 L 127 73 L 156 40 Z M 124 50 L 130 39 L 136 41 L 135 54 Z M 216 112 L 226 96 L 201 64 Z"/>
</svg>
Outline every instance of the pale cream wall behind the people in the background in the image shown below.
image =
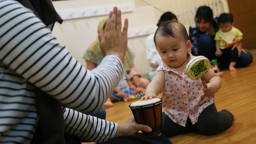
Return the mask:
<svg viewBox="0 0 256 144">
<path fill-rule="evenodd" d="M 128 46 L 136 52 L 134 64 L 137 71 L 143 75 L 147 74 L 149 70 L 146 60 L 146 38 L 156 29 L 156 23 L 162 13 L 174 12 L 178 16 L 179 22 L 188 28 L 190 24 L 194 24 L 194 12 L 200 5 L 209 5 L 217 15 L 219 6 L 215 8 L 215 1 L 219 2 L 220 0 L 62 0 L 54 1 L 53 4 L 57 12 L 62 14 L 81 9 L 132 4 L 132 11 L 123 13 L 122 21 L 124 18 L 129 20 L 128 36 L 138 35 L 138 37 L 128 38 Z M 224 6 L 222 9 L 228 12 L 226 0 L 222 0 L 222 6 Z M 83 12 L 81 12 L 81 17 L 83 17 L 82 15 Z M 76 19 L 72 19 L 72 16 L 74 15 L 70 14 L 70 19 L 64 20 L 61 25 L 56 23 L 53 34 L 61 44 L 70 50 L 78 62 L 86 66 L 82 56 L 86 48 L 97 38 L 98 22 L 107 15 Z"/>
</svg>

